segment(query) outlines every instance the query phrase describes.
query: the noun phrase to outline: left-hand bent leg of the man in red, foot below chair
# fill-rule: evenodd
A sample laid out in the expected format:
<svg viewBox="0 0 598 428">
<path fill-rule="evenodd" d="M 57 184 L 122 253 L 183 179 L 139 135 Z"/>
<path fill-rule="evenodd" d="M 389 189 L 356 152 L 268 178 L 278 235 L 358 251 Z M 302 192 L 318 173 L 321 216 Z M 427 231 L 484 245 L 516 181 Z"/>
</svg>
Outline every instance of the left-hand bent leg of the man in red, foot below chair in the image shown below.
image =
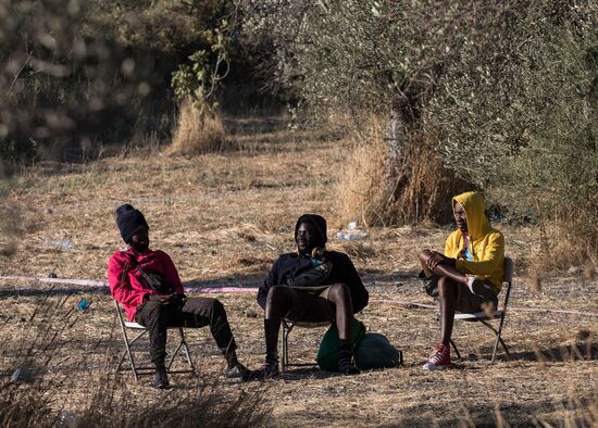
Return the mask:
<svg viewBox="0 0 598 428">
<path fill-rule="evenodd" d="M 169 378 L 164 366 L 166 357 L 166 328 L 171 316 L 169 306 L 160 302 L 147 301 L 140 305 L 135 314 L 135 320 L 146 327 L 150 339 L 150 357 L 155 366 L 155 388 L 167 388 Z"/>
</svg>

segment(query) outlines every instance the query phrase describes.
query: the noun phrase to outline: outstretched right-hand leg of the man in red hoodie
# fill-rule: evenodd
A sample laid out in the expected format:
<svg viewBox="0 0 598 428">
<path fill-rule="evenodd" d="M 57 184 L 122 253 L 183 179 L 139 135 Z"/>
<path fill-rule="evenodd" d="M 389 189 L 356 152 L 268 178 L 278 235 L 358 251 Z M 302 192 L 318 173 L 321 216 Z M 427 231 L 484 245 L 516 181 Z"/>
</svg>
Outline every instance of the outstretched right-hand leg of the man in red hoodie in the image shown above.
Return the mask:
<svg viewBox="0 0 598 428">
<path fill-rule="evenodd" d="M 241 367 L 237 360 L 237 344 L 235 343 L 233 331 L 231 331 L 226 311 L 219 300 L 210 298 L 187 299 L 180 310 L 174 311 L 172 318 L 169 319 L 169 326 L 210 326 L 210 332 L 226 360 L 227 376 L 236 367 Z"/>
</svg>

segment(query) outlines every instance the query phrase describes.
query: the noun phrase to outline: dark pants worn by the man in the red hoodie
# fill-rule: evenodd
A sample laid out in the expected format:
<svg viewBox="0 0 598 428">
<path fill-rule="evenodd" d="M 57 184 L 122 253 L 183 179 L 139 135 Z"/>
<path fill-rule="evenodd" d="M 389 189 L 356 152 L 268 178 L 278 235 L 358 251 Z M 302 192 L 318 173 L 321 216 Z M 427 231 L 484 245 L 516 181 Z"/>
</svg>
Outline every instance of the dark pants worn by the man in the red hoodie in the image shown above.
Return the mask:
<svg viewBox="0 0 598 428">
<path fill-rule="evenodd" d="M 216 299 L 187 299 L 183 307 L 147 301 L 137 307 L 135 322 L 149 330 L 151 361 L 157 367 L 164 365 L 169 327 L 210 326 L 210 331 L 225 356 L 237 348 L 224 306 Z"/>
</svg>

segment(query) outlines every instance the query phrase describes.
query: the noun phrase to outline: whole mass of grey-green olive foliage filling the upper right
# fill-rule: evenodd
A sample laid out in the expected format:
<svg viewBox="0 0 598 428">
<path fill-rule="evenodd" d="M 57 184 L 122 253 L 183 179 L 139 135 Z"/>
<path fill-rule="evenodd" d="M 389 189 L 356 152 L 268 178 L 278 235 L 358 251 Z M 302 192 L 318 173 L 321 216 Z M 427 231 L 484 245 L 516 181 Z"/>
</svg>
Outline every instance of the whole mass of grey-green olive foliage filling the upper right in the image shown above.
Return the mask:
<svg viewBox="0 0 598 428">
<path fill-rule="evenodd" d="M 596 2 L 270 0 L 247 11 L 247 29 L 274 46 L 276 79 L 306 102 L 388 117 L 407 99 L 407 140 L 423 134 L 490 200 L 568 216 L 596 248 Z"/>
</svg>

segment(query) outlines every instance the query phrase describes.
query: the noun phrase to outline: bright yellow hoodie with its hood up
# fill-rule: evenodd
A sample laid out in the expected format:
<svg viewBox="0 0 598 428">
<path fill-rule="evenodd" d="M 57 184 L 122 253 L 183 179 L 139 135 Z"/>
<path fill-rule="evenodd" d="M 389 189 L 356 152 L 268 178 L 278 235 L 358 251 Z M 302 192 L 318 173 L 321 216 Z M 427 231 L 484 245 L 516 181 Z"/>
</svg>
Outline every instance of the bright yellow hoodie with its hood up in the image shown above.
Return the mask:
<svg viewBox="0 0 598 428">
<path fill-rule="evenodd" d="M 452 206 L 459 202 L 465 211 L 468 234 L 470 236 L 470 252 L 474 261 L 462 255 L 463 235 L 457 229 L 447 238 L 445 255 L 457 260 L 457 269 L 465 275 L 486 278 L 494 285 L 498 293 L 502 288 L 504 274 L 504 237 L 490 226 L 486 217 L 484 196 L 478 192 L 466 192 L 452 198 Z"/>
</svg>

